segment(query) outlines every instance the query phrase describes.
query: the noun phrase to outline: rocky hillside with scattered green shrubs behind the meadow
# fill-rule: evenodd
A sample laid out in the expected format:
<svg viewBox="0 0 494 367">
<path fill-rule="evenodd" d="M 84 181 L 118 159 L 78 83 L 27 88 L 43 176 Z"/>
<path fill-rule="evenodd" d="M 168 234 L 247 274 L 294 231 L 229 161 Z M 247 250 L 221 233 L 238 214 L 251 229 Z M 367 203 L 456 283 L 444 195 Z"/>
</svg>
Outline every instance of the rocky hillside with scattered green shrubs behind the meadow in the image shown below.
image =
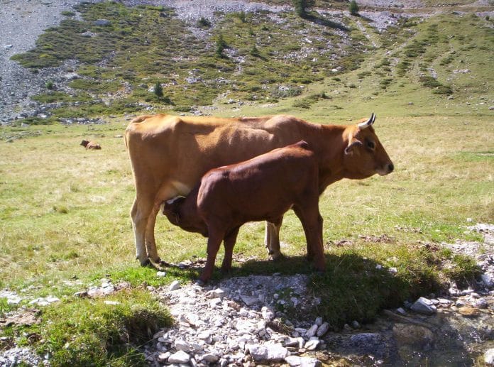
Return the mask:
<svg viewBox="0 0 494 367">
<path fill-rule="evenodd" d="M 341 108 L 341 96 L 330 90 L 307 92 L 325 80 L 344 93 L 359 92 L 363 101 L 376 98 L 359 90 L 363 80 L 377 84 L 385 99 L 393 97 L 393 84 L 413 94 L 407 87 L 418 81 L 451 99 L 473 87 L 490 106 L 491 76 L 483 67 L 493 50 L 489 1 L 360 4 L 359 16 L 350 16 L 346 3 L 321 1 L 300 18 L 289 1 L 7 1 L 0 9 L 7 35 L 0 121 L 211 114 L 222 104 L 272 106 L 297 96 L 295 108 L 327 99 Z M 157 84 L 163 94 L 155 93 Z"/>
</svg>

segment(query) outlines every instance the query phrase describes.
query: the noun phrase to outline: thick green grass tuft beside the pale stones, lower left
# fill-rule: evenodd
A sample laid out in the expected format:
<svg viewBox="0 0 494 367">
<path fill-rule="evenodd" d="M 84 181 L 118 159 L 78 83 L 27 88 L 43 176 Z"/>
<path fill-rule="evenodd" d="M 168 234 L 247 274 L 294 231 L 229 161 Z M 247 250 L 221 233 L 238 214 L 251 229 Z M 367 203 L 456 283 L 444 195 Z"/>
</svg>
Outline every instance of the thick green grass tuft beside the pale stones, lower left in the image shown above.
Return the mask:
<svg viewBox="0 0 494 367">
<path fill-rule="evenodd" d="M 51 366 L 146 366 L 139 348 L 172 319 L 147 292 L 119 292 L 104 300 L 72 300 L 46 307 L 35 330 Z"/>
</svg>

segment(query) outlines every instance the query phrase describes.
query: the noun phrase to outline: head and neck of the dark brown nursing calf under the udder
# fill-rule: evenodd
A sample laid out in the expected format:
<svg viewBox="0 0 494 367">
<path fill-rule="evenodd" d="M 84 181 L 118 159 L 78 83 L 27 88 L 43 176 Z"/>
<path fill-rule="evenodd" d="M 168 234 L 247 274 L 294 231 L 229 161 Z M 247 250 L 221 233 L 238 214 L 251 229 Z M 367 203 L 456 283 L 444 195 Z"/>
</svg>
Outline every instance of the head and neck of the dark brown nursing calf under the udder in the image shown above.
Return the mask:
<svg viewBox="0 0 494 367">
<path fill-rule="evenodd" d="M 207 236 L 207 226 L 197 214 L 197 205 L 192 202 L 192 199 L 187 200 L 187 197 L 182 196 L 174 197 L 163 202 L 162 209 L 171 224 L 185 231 Z"/>
</svg>

